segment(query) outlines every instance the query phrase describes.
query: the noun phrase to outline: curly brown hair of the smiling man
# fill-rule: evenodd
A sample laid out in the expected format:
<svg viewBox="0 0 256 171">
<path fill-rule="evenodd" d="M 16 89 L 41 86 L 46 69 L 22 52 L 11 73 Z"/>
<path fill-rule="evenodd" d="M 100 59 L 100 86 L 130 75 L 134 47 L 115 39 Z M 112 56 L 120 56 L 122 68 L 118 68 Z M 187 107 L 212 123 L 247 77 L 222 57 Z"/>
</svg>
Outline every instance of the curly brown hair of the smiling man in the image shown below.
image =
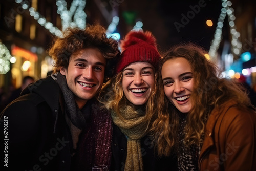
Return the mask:
<svg viewBox="0 0 256 171">
<path fill-rule="evenodd" d="M 54 59 L 54 73 L 61 67 L 68 68 L 71 55 L 86 48 L 98 48 L 106 58 L 104 82 L 113 76 L 116 59 L 120 55 L 117 40 L 108 38 L 106 30 L 99 24 L 87 25 L 86 29 L 68 28 L 63 37 L 56 37 L 48 53 Z"/>
</svg>

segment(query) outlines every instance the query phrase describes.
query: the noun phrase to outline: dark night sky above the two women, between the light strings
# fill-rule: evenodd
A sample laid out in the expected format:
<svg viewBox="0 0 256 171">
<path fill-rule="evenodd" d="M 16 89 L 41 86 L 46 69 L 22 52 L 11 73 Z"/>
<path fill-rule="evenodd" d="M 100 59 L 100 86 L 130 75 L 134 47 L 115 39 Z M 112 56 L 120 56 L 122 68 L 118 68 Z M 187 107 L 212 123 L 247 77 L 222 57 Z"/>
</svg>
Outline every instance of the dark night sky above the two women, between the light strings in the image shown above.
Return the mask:
<svg viewBox="0 0 256 171">
<path fill-rule="evenodd" d="M 187 41 L 209 49 L 221 12 L 221 0 L 126 1 L 120 4 L 119 17 L 122 17 L 122 11 L 135 11 L 137 19 L 143 22 L 143 30 L 151 31 L 157 38 L 160 50 Z M 184 19 L 184 16 L 187 18 Z M 212 27 L 206 25 L 207 19 L 214 22 Z M 121 38 L 124 34 L 125 32 L 121 33 Z"/>
</svg>

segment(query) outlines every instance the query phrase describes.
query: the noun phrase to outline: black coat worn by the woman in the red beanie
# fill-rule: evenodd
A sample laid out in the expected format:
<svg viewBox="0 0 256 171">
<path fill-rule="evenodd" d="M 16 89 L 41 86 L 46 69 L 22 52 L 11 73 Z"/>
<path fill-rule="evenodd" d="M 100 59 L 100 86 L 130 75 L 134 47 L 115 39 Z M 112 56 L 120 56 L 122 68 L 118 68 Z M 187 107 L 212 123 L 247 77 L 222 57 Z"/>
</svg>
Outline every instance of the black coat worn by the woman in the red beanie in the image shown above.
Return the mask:
<svg viewBox="0 0 256 171">
<path fill-rule="evenodd" d="M 145 136 L 140 140 L 144 171 L 177 170 L 176 156 L 156 157 L 151 138 Z M 127 138 L 118 126 L 113 124 L 112 160 L 110 171 L 123 171 L 127 152 Z"/>
</svg>

